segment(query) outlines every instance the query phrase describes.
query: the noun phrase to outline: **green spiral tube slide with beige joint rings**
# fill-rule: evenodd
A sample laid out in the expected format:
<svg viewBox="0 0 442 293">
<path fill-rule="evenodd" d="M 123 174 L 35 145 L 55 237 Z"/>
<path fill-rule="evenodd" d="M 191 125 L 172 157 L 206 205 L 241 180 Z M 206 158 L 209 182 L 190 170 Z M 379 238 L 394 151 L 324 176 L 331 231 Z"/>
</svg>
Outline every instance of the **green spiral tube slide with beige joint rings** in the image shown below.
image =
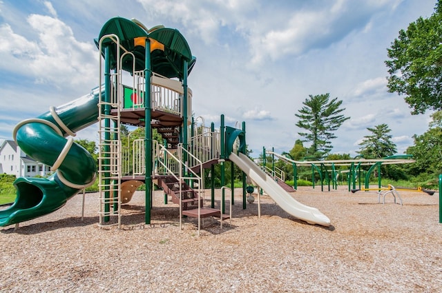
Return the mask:
<svg viewBox="0 0 442 293">
<path fill-rule="evenodd" d="M 0 211 L 0 226 L 21 223 L 54 212 L 95 181 L 97 166 L 91 154 L 73 142 L 75 132 L 97 122 L 99 89 L 21 121 L 14 139 L 23 152 L 50 165 L 48 178 L 20 177 L 14 182 L 15 203 Z M 66 139 L 65 137 L 69 137 Z"/>
</svg>

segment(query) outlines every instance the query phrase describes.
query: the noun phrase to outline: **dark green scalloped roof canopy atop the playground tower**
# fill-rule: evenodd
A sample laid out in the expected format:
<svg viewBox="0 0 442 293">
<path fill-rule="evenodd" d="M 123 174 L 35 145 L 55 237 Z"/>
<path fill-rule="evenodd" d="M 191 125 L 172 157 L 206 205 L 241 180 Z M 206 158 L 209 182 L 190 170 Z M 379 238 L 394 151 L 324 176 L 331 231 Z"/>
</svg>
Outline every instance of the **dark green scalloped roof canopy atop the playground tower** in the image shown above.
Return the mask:
<svg viewBox="0 0 442 293">
<path fill-rule="evenodd" d="M 122 17 L 114 17 L 109 19 L 99 32 L 99 39 L 106 34 L 116 34 L 119 38 L 120 54 L 126 51 L 132 52 L 137 60 L 135 70 L 144 70 L 145 59 L 145 38 L 151 39 L 151 69 L 153 72 L 163 75 L 164 77 L 179 79 L 184 78 L 183 64 L 184 60 L 188 62 L 187 73 L 190 74 L 196 58 L 192 56 L 191 49 L 182 34 L 172 28 L 156 28 L 151 32 L 146 32 L 135 22 L 124 19 Z M 154 40 L 154 41 L 153 41 Z M 158 43 L 155 43 L 157 41 Z M 153 44 L 155 43 L 155 44 Z M 95 44 L 99 47 L 98 41 Z M 117 45 L 111 39 L 105 39 L 102 46 L 102 55 L 104 56 L 104 48 L 110 47 L 111 67 L 116 67 Z M 124 48 L 124 49 L 123 49 Z M 122 68 L 128 72 L 132 72 L 132 58 L 128 55 L 124 57 Z"/>
</svg>

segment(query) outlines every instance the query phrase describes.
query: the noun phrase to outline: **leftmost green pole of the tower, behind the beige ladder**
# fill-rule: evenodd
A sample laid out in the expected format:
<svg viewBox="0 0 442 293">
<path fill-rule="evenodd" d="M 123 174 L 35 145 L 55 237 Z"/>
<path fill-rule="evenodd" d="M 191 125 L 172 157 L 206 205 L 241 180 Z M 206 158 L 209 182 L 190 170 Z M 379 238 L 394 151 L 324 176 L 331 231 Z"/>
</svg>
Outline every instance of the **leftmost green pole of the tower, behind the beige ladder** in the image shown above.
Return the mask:
<svg viewBox="0 0 442 293">
<path fill-rule="evenodd" d="M 118 57 L 119 58 L 119 57 Z M 101 99 L 102 97 L 99 97 Z M 104 114 L 106 116 L 111 114 L 111 105 L 109 104 L 111 102 L 111 54 L 109 51 L 109 47 L 106 46 L 104 48 L 104 102 L 106 105 L 104 105 Z M 110 205 L 109 205 L 109 199 L 111 198 L 111 192 L 108 188 L 108 186 L 111 185 L 111 180 L 108 179 L 111 174 L 109 170 L 109 164 L 110 159 L 109 158 L 109 152 L 111 152 L 111 147 L 109 146 L 109 141 L 111 140 L 111 133 L 109 132 L 109 128 L 111 126 L 111 119 L 104 119 L 104 186 L 106 186 L 104 190 L 104 212 L 108 214 L 111 211 Z M 104 221 L 108 222 L 111 220 L 110 216 L 105 216 Z"/>
</svg>

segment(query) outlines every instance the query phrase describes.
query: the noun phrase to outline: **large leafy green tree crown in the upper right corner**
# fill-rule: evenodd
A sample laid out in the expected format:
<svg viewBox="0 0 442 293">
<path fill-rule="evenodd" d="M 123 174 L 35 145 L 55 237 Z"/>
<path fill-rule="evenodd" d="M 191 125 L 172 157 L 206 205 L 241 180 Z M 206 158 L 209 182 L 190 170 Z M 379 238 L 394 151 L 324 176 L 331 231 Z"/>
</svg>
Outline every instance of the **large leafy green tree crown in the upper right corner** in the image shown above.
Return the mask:
<svg viewBox="0 0 442 293">
<path fill-rule="evenodd" d="M 387 49 L 388 88 L 405 96 L 412 114 L 442 109 L 442 0 L 431 17 L 400 30 Z"/>
</svg>

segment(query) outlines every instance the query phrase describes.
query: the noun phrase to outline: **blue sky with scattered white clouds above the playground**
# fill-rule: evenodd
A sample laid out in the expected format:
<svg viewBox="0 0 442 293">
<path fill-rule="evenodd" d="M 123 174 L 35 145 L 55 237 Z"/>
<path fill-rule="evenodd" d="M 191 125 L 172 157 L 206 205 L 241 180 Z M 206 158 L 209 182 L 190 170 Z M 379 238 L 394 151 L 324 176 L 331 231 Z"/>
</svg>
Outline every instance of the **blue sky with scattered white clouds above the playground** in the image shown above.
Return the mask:
<svg viewBox="0 0 442 293">
<path fill-rule="evenodd" d="M 332 153 L 356 155 L 367 128 L 386 123 L 398 154 L 428 129 L 387 90 L 387 48 L 430 17 L 436 0 L 0 0 L 0 142 L 19 121 L 73 101 L 99 83 L 93 42 L 108 19 L 176 28 L 197 58 L 189 76 L 204 124 L 246 123 L 251 156 L 288 152 L 309 95 L 342 100 L 350 117 Z M 76 139 L 98 141 L 97 125 Z M 305 144 L 308 146 L 308 143 Z"/>
</svg>

